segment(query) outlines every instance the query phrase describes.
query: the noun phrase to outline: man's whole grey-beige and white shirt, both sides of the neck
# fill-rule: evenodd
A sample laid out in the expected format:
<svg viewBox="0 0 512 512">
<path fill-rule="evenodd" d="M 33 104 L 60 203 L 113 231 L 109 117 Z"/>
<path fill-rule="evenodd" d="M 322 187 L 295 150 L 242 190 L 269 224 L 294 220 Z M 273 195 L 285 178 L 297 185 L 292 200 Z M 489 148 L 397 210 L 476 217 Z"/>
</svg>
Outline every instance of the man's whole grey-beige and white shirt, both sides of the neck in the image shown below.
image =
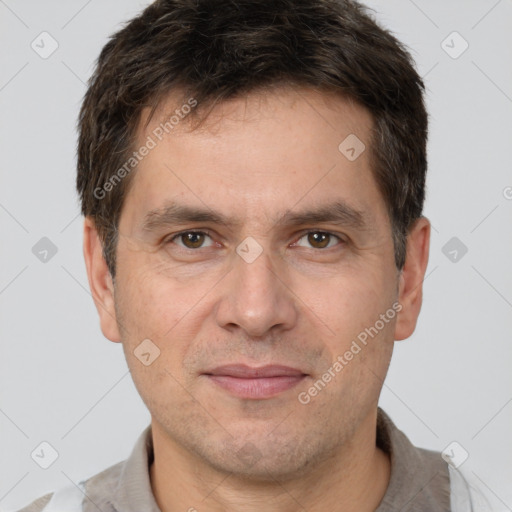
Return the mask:
<svg viewBox="0 0 512 512">
<path fill-rule="evenodd" d="M 391 476 L 375 512 L 490 510 L 460 471 L 445 462 L 440 453 L 413 446 L 382 409 L 378 410 L 377 445 L 390 456 Z M 49 493 L 19 512 L 161 512 L 151 490 L 152 462 L 150 425 L 126 461 L 76 486 Z"/>
</svg>

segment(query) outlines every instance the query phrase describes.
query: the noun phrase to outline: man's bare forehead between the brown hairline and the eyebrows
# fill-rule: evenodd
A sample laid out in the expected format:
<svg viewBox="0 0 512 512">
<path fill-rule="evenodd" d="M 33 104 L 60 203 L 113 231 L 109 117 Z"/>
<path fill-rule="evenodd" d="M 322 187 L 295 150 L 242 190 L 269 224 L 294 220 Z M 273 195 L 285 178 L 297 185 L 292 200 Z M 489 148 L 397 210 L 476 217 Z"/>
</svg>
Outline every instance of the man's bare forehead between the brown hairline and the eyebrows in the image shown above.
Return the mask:
<svg viewBox="0 0 512 512">
<path fill-rule="evenodd" d="M 169 96 L 141 117 L 137 143 L 154 147 L 125 198 L 133 222 L 169 202 L 275 221 L 299 204 L 341 199 L 386 215 L 370 167 L 373 121 L 355 102 L 283 88 L 219 103 L 197 127 L 191 100 Z M 201 118 L 209 107 L 193 108 Z"/>
</svg>

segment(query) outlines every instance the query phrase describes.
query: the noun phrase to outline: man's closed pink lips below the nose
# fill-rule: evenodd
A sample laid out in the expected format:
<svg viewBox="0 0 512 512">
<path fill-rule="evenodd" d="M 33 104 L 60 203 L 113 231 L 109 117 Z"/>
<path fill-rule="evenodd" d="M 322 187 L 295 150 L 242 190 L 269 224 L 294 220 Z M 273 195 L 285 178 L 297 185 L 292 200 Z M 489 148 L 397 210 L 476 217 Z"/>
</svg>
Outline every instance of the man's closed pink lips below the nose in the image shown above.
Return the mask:
<svg viewBox="0 0 512 512">
<path fill-rule="evenodd" d="M 272 398 L 294 388 L 307 377 L 297 368 L 281 365 L 225 365 L 203 375 L 228 393 L 252 400 Z"/>
</svg>

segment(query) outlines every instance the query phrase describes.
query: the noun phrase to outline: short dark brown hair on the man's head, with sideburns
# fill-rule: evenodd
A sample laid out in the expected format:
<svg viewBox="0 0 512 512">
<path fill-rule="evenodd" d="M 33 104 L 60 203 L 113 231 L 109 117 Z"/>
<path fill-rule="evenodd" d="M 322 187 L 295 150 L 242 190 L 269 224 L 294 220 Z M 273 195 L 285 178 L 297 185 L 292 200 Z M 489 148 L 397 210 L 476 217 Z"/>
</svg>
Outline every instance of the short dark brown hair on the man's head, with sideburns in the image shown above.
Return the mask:
<svg viewBox="0 0 512 512">
<path fill-rule="evenodd" d="M 133 173 L 98 190 L 133 151 L 142 110 L 175 90 L 204 106 L 273 85 L 335 91 L 371 113 L 372 172 L 402 269 L 427 168 L 424 85 L 402 44 L 352 0 L 157 0 L 105 45 L 79 116 L 77 189 L 112 277 Z"/>
</svg>

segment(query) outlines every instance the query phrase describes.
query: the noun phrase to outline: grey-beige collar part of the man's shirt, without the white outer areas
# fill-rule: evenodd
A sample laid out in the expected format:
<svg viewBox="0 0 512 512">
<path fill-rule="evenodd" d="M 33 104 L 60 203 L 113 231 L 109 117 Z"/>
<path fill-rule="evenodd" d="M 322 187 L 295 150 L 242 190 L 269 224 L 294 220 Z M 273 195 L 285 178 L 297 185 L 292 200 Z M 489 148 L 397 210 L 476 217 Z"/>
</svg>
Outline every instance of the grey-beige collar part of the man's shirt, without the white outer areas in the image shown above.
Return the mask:
<svg viewBox="0 0 512 512">
<path fill-rule="evenodd" d="M 447 464 L 437 452 L 416 448 L 379 408 L 377 445 L 391 460 L 388 489 L 376 512 L 447 512 L 450 478 Z M 153 461 L 151 425 L 140 435 L 130 457 L 87 481 L 84 512 L 161 512 L 151 490 L 149 467 Z M 107 501 L 105 498 L 109 496 Z M 101 508 L 101 510 L 106 510 Z"/>
</svg>

